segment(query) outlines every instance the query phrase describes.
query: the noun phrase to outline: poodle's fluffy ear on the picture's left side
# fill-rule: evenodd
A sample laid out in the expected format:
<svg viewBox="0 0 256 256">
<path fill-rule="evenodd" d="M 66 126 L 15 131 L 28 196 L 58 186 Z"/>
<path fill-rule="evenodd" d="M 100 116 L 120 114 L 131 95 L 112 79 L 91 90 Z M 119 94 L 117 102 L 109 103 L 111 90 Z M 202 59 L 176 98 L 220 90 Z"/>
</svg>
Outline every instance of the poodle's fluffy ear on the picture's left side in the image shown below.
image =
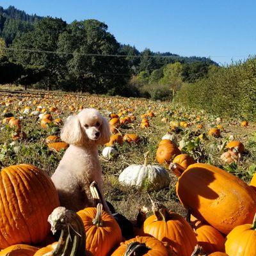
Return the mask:
<svg viewBox="0 0 256 256">
<path fill-rule="evenodd" d="M 84 136 L 78 116 L 68 116 L 61 129 L 61 140 L 68 144 L 83 145 Z"/>
</svg>

